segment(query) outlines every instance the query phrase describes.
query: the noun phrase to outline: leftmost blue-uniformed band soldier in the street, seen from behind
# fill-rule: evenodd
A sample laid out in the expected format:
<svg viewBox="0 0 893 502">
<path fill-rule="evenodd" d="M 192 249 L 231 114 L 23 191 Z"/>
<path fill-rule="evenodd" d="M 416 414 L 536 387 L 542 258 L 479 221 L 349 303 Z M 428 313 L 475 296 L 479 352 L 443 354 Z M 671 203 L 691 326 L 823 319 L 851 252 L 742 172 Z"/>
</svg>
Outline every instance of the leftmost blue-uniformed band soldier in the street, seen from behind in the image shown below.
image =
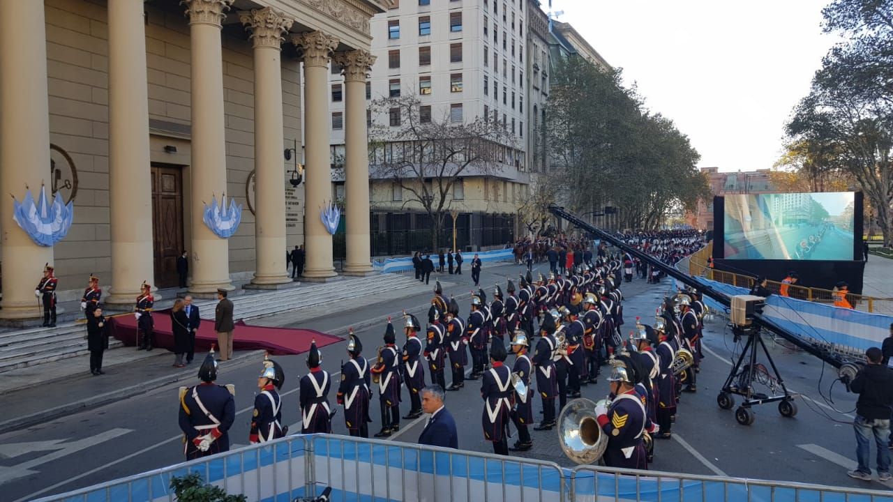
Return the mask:
<svg viewBox="0 0 893 502">
<path fill-rule="evenodd" d="M 230 427 L 236 420 L 236 402 L 230 389 L 214 383 L 217 361 L 214 349 L 198 369 L 202 383 L 180 390 L 179 429 L 184 435 L 187 460 L 230 450 Z"/>
</svg>

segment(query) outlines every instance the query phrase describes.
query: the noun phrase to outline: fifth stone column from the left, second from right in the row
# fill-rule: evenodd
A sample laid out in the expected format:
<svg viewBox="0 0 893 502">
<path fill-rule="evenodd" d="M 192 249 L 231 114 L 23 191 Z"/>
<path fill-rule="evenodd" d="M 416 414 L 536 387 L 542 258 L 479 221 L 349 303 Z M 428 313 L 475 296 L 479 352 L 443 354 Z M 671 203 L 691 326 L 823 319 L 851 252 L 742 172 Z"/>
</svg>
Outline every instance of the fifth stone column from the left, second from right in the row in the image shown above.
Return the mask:
<svg viewBox="0 0 893 502">
<path fill-rule="evenodd" d="M 325 280 L 337 275 L 332 267 L 332 236 L 320 219 L 331 202 L 329 154 L 329 58 L 338 39 L 321 31 L 301 33 L 292 42 L 304 52 L 305 140 L 305 267 L 304 277 Z"/>
</svg>

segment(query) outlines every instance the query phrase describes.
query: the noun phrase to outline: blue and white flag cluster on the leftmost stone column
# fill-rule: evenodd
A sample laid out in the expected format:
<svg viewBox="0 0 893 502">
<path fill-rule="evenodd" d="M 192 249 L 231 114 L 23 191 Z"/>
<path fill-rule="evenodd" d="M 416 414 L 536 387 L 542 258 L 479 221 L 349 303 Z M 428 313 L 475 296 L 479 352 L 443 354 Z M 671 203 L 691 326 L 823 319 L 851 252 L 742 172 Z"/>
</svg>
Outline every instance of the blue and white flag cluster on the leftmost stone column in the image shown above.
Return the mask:
<svg viewBox="0 0 893 502">
<path fill-rule="evenodd" d="M 60 192 L 56 192 L 50 203 L 46 197 L 46 187 L 41 186 L 37 204 L 30 190 L 25 192 L 21 203 L 13 197 L 13 220 L 38 246 L 50 247 L 68 235 L 74 220 L 73 204 L 69 202 L 65 205 Z"/>
</svg>

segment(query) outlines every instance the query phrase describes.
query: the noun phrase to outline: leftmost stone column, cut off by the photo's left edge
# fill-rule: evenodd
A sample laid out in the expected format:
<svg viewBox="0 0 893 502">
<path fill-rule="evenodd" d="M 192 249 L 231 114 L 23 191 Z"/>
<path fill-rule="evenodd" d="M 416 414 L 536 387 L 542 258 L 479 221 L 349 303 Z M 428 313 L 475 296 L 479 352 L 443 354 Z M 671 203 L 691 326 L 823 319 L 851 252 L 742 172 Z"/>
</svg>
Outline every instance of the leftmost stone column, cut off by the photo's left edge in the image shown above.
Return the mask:
<svg viewBox="0 0 893 502">
<path fill-rule="evenodd" d="M 40 185 L 50 180 L 44 3 L 2 0 L 0 11 L 0 193 L 4 197 L 0 203 L 4 265 L 0 318 L 25 319 L 43 315 L 34 289 L 44 264 L 53 263 L 53 248 L 38 246 L 13 222 L 9 197 L 12 194 L 21 202 L 30 189 L 37 198 Z"/>
</svg>

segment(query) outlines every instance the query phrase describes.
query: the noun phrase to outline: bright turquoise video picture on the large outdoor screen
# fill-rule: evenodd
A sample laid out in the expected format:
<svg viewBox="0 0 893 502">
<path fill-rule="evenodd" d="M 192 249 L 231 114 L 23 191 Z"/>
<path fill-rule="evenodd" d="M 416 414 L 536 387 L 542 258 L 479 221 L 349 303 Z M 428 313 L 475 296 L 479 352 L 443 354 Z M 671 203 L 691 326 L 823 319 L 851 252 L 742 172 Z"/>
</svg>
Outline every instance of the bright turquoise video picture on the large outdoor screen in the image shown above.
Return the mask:
<svg viewBox="0 0 893 502">
<path fill-rule="evenodd" d="M 725 258 L 852 260 L 855 193 L 725 196 Z"/>
</svg>

